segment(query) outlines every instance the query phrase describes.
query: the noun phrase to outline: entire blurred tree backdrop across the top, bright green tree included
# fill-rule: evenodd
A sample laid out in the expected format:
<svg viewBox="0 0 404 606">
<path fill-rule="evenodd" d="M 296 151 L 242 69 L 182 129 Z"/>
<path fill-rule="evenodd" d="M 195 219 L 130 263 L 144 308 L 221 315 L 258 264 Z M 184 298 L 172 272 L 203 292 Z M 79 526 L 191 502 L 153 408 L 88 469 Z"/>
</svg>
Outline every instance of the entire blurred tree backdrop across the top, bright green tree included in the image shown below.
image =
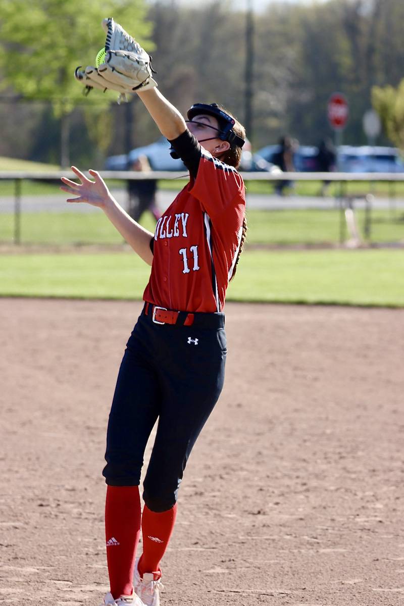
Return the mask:
<svg viewBox="0 0 404 606">
<path fill-rule="evenodd" d="M 143 1 L 148 2 L 147 13 Z M 102 9 L 90 0 L 83 16 L 78 16 L 83 11 L 77 0 L 31 4 L 27 0 L 0 0 L 0 8 L 0 44 L 5 50 L 0 55 L 0 80 L 9 86 L 7 95 L 23 92 L 30 99 L 51 98 L 59 116 L 64 100 L 71 99 L 71 107 L 84 102 L 71 115 L 71 128 L 82 132 L 81 148 L 74 147 L 72 140 L 71 153 L 76 158 L 81 154 L 91 158 L 94 142 L 100 152 L 111 155 L 159 137 L 136 96 L 130 107 L 113 103 L 110 113 L 103 115 L 116 95 L 94 91 L 84 100 L 72 76 L 76 65 L 92 63 L 104 44 L 100 22 L 108 14 L 121 20 L 130 33 L 142 33 L 140 41 L 148 51 L 156 48 L 152 54 L 159 87 L 181 112 L 196 101 L 217 101 L 243 120 L 245 12 L 234 10 L 230 0 L 207 0 L 202 6 L 185 6 L 176 0 L 110 0 Z M 149 24 L 145 24 L 146 18 Z M 255 21 L 256 148 L 276 142 L 285 133 L 304 144 L 317 144 L 320 138 L 331 135 L 326 105 L 336 90 L 345 93 L 349 101 L 344 142 L 364 144 L 362 118 L 371 103 L 372 88 L 397 87 L 403 76 L 403 22 L 403 0 L 326 0 L 299 5 L 271 2 Z M 144 38 L 148 35 L 153 46 Z M 19 156 L 25 150 L 30 153 L 40 148 L 42 157 L 55 158 L 55 118 L 48 116 L 41 121 L 42 110 L 36 104 L 32 104 L 31 113 L 18 104 L 13 107 L 13 116 L 10 107 L 9 103 L 0 104 L 3 137 L 10 141 L 10 148 L 19 148 Z M 44 111 L 50 112 L 48 105 Z M 110 119 L 113 128 L 109 122 L 106 126 Z M 97 127 L 88 125 L 87 135 L 85 124 L 89 121 L 96 121 Z M 36 131 L 38 125 L 43 127 L 41 135 Z M 386 132 L 391 129 L 386 128 Z M 42 141 L 35 143 L 35 138 Z M 387 143 L 388 139 L 379 141 Z M 0 144 L 7 150 L 7 141 Z"/>
</svg>

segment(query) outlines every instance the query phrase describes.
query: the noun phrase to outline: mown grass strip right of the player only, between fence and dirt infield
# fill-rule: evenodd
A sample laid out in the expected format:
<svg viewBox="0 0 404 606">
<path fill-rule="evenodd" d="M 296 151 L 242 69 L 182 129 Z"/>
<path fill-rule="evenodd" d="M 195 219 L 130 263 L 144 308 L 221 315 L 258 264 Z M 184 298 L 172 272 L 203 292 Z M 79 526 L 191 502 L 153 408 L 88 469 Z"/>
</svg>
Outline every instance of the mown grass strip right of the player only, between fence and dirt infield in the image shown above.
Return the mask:
<svg viewBox="0 0 404 606">
<path fill-rule="evenodd" d="M 404 251 L 248 251 L 236 301 L 404 307 Z"/>
</svg>

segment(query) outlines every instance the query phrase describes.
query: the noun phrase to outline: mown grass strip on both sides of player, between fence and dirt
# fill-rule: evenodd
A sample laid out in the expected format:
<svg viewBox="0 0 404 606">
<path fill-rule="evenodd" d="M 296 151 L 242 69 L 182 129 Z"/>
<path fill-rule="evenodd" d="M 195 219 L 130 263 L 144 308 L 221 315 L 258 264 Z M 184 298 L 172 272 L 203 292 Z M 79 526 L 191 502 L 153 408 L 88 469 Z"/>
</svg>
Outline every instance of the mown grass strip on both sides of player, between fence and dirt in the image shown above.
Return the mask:
<svg viewBox="0 0 404 606">
<path fill-rule="evenodd" d="M 2 255 L 0 295 L 141 299 L 134 253 Z M 404 251 L 245 251 L 228 301 L 404 307 Z"/>
</svg>

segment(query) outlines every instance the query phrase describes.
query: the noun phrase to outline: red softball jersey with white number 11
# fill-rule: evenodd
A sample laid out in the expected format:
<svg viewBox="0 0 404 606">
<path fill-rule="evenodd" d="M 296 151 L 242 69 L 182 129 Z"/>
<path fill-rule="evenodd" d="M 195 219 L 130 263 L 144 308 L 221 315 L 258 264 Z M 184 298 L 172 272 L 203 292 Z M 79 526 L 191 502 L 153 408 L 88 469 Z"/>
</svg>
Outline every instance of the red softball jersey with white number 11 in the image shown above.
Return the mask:
<svg viewBox="0 0 404 606">
<path fill-rule="evenodd" d="M 242 177 L 202 148 L 196 178 L 157 221 L 144 301 L 177 311 L 222 311 L 244 214 Z"/>
</svg>

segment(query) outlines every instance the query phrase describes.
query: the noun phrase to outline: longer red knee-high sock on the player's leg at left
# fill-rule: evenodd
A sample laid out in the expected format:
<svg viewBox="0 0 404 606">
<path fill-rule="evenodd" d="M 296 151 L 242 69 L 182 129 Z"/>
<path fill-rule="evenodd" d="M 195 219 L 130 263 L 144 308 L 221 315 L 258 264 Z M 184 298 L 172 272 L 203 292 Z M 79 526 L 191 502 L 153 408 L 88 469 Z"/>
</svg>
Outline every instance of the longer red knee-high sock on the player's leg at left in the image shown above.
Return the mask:
<svg viewBox="0 0 404 606">
<path fill-rule="evenodd" d="M 111 594 L 128 596 L 141 534 L 141 498 L 138 486 L 108 486 L 105 501 L 105 537 Z"/>
</svg>

